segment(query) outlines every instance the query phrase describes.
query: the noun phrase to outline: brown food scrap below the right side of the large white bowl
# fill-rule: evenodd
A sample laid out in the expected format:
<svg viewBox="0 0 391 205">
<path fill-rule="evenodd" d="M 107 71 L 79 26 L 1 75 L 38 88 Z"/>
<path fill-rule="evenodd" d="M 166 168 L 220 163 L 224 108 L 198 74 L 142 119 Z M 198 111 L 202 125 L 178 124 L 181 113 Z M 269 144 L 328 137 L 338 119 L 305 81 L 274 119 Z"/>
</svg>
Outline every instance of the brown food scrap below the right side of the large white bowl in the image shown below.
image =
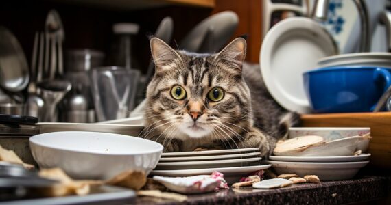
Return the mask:
<svg viewBox="0 0 391 205">
<path fill-rule="evenodd" d="M 139 190 L 145 185 L 146 182 L 147 177 L 145 176 L 145 172 L 138 170 L 128 170 L 117 174 L 110 180 L 107 180 L 106 184 Z"/>
</svg>

